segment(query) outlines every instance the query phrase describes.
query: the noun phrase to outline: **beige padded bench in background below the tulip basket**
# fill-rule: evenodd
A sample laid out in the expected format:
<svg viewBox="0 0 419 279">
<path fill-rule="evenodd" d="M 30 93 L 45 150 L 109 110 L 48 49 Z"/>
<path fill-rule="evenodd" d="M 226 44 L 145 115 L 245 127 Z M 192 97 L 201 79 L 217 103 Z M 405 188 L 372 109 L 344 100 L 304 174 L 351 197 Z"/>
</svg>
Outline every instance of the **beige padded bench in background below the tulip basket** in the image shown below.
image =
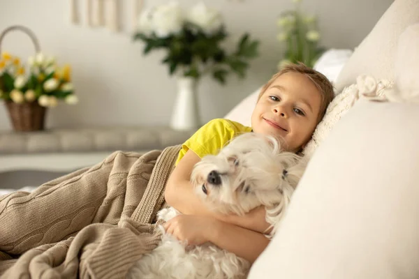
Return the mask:
<svg viewBox="0 0 419 279">
<path fill-rule="evenodd" d="M 145 153 L 181 144 L 194 131 L 167 127 L 74 128 L 0 132 L 0 188 L 37 186 L 94 165 L 113 151 Z"/>
</svg>

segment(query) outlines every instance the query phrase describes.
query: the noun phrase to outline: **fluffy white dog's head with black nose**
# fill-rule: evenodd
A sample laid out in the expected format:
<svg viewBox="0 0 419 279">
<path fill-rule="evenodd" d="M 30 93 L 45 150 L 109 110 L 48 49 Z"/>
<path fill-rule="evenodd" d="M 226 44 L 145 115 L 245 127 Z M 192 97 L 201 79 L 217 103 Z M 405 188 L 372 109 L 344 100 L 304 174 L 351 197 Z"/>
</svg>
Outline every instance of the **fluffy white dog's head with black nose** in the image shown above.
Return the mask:
<svg viewBox="0 0 419 279">
<path fill-rule="evenodd" d="M 191 181 L 212 210 L 243 214 L 291 197 L 295 186 L 282 176 L 297 158 L 293 153 L 280 153 L 273 137 L 247 133 L 236 137 L 218 155 L 205 156 L 194 167 Z"/>
</svg>

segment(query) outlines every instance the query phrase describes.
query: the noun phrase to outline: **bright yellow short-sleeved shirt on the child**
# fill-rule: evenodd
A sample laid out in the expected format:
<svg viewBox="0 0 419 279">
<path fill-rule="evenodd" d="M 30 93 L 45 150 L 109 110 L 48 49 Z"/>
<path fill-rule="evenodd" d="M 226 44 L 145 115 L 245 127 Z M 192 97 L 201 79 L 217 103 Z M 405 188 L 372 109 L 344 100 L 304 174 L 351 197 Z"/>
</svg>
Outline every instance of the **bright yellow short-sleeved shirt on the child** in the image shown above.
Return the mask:
<svg viewBox="0 0 419 279">
<path fill-rule="evenodd" d="M 227 119 L 213 119 L 182 144 L 176 165 L 189 149 L 195 152 L 199 158 L 203 158 L 208 154 L 216 155 L 233 137 L 249 132 L 251 132 L 251 127 L 244 126 L 238 122 Z"/>
</svg>

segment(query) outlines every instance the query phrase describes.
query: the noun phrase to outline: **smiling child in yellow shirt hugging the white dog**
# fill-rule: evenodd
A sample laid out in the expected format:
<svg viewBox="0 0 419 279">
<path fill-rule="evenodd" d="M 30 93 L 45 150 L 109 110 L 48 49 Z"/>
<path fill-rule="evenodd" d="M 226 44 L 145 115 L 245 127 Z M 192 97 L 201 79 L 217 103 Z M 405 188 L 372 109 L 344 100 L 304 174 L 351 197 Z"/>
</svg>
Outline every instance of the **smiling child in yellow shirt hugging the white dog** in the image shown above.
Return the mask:
<svg viewBox="0 0 419 279">
<path fill-rule="evenodd" d="M 334 96 L 332 84 L 321 73 L 290 64 L 265 84 L 251 115 L 251 127 L 226 119 L 214 119 L 182 145 L 165 198 L 184 213 L 166 223 L 168 233 L 191 245 L 210 241 L 253 263 L 269 243 L 263 232 L 269 225 L 265 210 L 255 209 L 246 216 L 222 216 L 208 211 L 193 193 L 189 181 L 193 166 L 240 133 L 272 135 L 285 151 L 298 153 L 310 140 Z"/>
</svg>

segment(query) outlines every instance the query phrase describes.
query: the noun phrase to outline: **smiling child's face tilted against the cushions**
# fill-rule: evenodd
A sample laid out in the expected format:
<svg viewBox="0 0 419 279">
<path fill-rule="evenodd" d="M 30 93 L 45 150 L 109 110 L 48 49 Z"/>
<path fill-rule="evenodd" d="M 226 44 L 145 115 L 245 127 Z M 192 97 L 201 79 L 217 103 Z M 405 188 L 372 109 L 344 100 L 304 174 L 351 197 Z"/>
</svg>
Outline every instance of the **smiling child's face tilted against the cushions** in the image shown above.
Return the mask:
<svg viewBox="0 0 419 279">
<path fill-rule="evenodd" d="M 317 126 L 321 94 L 308 77 L 284 73 L 277 77 L 258 100 L 251 115 L 255 133 L 283 140 L 286 151 L 297 152 Z"/>
</svg>

